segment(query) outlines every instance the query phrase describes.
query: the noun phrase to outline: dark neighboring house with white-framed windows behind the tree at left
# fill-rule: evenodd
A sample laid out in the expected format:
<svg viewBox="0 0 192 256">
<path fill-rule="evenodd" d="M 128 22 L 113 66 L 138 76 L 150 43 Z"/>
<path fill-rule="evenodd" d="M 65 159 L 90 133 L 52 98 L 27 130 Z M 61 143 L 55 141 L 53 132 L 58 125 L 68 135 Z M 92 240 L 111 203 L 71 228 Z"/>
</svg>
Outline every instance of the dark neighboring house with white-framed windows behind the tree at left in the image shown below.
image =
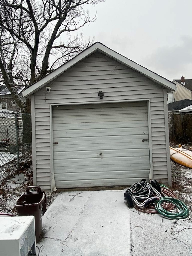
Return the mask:
<svg viewBox="0 0 192 256">
<path fill-rule="evenodd" d="M 21 90 L 18 92 L 22 97 Z M 1 110 L 10 110 L 14 112 L 21 111 L 6 86 L 0 86 L 0 111 Z"/>
</svg>

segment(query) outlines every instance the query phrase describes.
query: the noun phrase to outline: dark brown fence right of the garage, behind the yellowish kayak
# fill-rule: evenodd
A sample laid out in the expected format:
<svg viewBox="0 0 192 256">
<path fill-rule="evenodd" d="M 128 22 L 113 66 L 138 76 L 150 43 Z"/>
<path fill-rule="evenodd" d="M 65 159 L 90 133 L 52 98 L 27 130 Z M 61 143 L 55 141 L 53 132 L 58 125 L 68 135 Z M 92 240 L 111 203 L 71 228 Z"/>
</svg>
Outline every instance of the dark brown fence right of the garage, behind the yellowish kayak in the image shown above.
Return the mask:
<svg viewBox="0 0 192 256">
<path fill-rule="evenodd" d="M 169 113 L 168 120 L 170 141 L 190 145 L 192 143 L 192 113 Z"/>
</svg>

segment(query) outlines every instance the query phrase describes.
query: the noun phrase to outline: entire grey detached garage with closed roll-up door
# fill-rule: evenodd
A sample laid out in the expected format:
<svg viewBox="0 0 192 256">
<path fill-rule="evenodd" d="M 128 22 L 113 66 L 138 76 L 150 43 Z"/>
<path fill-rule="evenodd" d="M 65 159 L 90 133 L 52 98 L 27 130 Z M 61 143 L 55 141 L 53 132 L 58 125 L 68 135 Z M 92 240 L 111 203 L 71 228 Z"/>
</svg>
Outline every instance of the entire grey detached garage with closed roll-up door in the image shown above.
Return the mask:
<svg viewBox="0 0 192 256">
<path fill-rule="evenodd" d="M 33 182 L 43 190 L 171 186 L 167 92 L 175 84 L 97 42 L 23 91 Z"/>
</svg>

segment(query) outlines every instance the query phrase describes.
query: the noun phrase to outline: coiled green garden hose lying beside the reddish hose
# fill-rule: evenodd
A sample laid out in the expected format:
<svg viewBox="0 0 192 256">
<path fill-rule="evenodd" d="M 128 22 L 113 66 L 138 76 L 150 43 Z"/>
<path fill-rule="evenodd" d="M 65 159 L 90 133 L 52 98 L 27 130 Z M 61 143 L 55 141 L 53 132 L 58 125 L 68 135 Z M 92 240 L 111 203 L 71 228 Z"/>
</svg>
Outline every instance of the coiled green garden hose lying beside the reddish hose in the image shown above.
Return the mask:
<svg viewBox="0 0 192 256">
<path fill-rule="evenodd" d="M 162 204 L 165 202 L 169 202 L 171 204 L 174 204 L 176 208 L 179 210 L 179 212 L 169 212 L 166 209 L 162 207 Z M 187 206 L 182 203 L 180 200 L 172 197 L 161 197 L 159 201 L 156 201 L 155 203 L 155 209 L 169 219 L 184 219 L 189 216 L 189 210 Z"/>
</svg>

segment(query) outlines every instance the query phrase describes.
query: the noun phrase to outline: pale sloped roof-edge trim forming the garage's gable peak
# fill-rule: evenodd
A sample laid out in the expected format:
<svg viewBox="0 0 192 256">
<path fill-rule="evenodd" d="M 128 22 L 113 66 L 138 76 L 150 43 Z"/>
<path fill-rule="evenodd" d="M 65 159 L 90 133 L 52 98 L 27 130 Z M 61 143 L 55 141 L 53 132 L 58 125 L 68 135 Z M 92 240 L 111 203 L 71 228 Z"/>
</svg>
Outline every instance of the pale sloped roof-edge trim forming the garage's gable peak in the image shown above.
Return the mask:
<svg viewBox="0 0 192 256">
<path fill-rule="evenodd" d="M 127 67 L 133 69 L 136 72 L 139 72 L 140 74 L 143 74 L 144 76 L 148 77 L 149 79 L 155 81 L 155 83 L 160 84 L 161 86 L 164 86 L 165 88 L 170 89 L 171 91 L 175 90 L 175 84 L 171 81 L 165 79 L 164 77 L 159 76 L 158 74 L 150 71 L 147 68 L 144 68 L 143 66 L 137 64 L 136 62 L 133 62 L 130 59 L 127 59 L 125 56 L 122 56 L 121 54 L 111 50 L 104 44 L 101 44 L 100 42 L 96 42 L 95 44 L 92 44 L 90 47 L 86 48 L 84 51 L 76 55 L 73 59 L 70 59 L 54 71 L 47 74 L 45 77 L 38 80 L 36 83 L 30 85 L 23 91 L 23 97 L 27 97 L 28 95 L 33 94 L 34 92 L 38 91 L 54 79 L 56 79 L 58 76 L 63 74 L 67 69 L 74 66 L 76 63 L 81 61 L 82 59 L 85 59 L 92 53 L 99 51 L 106 56 L 109 56 L 113 59 L 115 59 L 117 62 L 126 65 Z"/>
</svg>

